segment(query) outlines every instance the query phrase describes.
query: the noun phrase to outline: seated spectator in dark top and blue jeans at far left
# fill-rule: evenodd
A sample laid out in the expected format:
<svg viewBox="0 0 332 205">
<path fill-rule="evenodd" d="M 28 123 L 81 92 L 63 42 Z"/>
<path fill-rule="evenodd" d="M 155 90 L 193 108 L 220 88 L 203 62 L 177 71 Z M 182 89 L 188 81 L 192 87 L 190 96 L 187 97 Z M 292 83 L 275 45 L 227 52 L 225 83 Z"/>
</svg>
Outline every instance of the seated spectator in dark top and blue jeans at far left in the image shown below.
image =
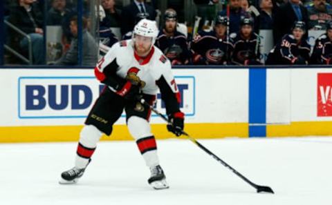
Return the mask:
<svg viewBox="0 0 332 205">
<path fill-rule="evenodd" d="M 45 46 L 43 30 L 43 14 L 36 6 L 35 0 L 19 0 L 18 6 L 10 12 L 9 21 L 29 35 L 32 42 L 33 64 L 45 64 Z M 19 46 L 26 52 L 28 50 L 28 39 L 12 34 L 13 39 L 19 40 Z"/>
</svg>

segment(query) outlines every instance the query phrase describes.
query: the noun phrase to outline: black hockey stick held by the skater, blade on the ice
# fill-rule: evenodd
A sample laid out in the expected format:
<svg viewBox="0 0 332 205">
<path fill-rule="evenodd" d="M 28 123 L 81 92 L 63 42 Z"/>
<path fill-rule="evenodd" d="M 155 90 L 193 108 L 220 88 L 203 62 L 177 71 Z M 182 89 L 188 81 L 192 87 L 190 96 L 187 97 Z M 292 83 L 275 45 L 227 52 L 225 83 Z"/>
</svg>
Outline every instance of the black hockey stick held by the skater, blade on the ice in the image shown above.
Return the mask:
<svg viewBox="0 0 332 205">
<path fill-rule="evenodd" d="M 153 106 L 151 106 L 150 104 L 148 104 L 144 99 L 140 99 L 140 103 L 143 104 L 143 105 L 145 105 L 145 106 L 147 106 L 147 107 L 149 107 L 154 113 L 156 113 L 158 116 L 160 116 L 165 121 L 167 121 L 168 124 L 172 124 L 172 122 L 169 121 L 169 119 L 167 119 L 167 117 L 165 117 L 165 115 L 161 114 Z M 216 159 L 216 161 L 218 161 L 221 164 L 223 164 L 223 166 L 229 168 L 235 175 L 239 176 L 241 179 L 243 179 L 245 182 L 247 182 L 248 184 L 250 184 L 252 187 L 256 188 L 257 193 L 261 193 L 261 192 L 274 193 L 273 190 L 272 190 L 272 188 L 270 188 L 268 186 L 259 186 L 257 184 L 254 184 L 253 182 L 251 182 L 245 176 L 241 175 L 241 173 L 239 173 L 237 170 L 235 170 L 234 168 L 232 168 L 232 166 L 230 166 L 229 164 L 227 164 L 226 162 L 224 162 L 223 159 L 220 159 L 218 156 L 214 155 L 214 153 L 212 153 L 210 150 L 208 150 L 207 148 L 205 148 L 205 146 L 203 146 L 202 144 L 200 144 L 196 139 L 194 139 L 193 137 L 190 137 L 190 135 L 188 135 L 187 133 L 185 133 L 185 131 L 182 130 L 182 134 L 185 135 L 185 136 L 187 136 L 188 139 L 190 139 L 190 141 L 194 142 L 194 144 L 196 144 L 197 146 L 199 146 L 199 148 L 201 148 L 202 150 L 204 150 L 205 153 L 208 153 L 210 156 L 212 156 L 214 159 Z"/>
</svg>

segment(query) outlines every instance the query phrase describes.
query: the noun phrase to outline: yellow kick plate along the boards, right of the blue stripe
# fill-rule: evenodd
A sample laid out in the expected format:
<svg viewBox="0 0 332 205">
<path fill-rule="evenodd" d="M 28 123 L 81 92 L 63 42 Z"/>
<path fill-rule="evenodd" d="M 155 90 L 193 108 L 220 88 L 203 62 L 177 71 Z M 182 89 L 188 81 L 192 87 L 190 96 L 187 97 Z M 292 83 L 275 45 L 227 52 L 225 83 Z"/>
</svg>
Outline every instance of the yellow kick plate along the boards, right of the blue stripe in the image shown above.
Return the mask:
<svg viewBox="0 0 332 205">
<path fill-rule="evenodd" d="M 293 121 L 289 125 L 266 126 L 267 137 L 332 135 L 332 121 Z"/>
</svg>

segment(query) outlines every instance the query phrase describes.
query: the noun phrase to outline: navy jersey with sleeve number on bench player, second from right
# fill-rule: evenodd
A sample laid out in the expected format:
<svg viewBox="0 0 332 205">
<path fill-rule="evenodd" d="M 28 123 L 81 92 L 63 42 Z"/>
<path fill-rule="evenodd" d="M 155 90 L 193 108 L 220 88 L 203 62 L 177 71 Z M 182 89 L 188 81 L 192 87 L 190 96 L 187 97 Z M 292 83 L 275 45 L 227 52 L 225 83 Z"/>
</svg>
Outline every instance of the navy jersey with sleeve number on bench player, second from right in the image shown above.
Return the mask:
<svg viewBox="0 0 332 205">
<path fill-rule="evenodd" d="M 268 54 L 266 64 L 308 64 L 309 59 L 310 45 L 305 40 L 297 42 L 293 35 L 284 35 L 282 41 Z"/>
</svg>

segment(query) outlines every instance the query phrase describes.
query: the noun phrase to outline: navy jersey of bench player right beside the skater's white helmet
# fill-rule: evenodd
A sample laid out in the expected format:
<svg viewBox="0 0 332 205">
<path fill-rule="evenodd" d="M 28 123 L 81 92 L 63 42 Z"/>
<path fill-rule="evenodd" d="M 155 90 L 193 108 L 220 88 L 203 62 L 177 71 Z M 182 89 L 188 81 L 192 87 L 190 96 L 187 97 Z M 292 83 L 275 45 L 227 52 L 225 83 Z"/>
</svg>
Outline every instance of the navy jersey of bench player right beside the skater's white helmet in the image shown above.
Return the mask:
<svg viewBox="0 0 332 205">
<path fill-rule="evenodd" d="M 187 37 L 178 31 L 175 31 L 173 36 L 167 37 L 163 30 L 160 30 L 155 46 L 163 51 L 172 64 L 185 64 L 192 56 L 188 49 Z"/>
</svg>

